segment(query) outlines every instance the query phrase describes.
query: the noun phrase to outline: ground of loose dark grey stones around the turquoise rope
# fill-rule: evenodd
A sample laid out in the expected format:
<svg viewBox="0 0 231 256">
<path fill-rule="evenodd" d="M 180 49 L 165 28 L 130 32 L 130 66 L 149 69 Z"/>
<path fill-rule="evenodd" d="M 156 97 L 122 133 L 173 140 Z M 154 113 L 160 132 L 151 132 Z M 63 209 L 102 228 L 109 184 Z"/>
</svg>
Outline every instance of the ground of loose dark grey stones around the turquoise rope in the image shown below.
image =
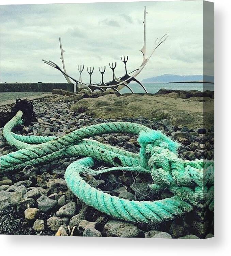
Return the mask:
<svg viewBox="0 0 231 256">
<path fill-rule="evenodd" d="M 38 122 L 15 129 L 25 135 L 62 136 L 91 124 L 113 122 L 117 119 L 92 118 L 86 112 L 71 110 L 74 102 L 63 96 L 34 100 Z M 9 109 L 2 106 L 1 111 Z M 158 119 L 158 120 L 157 120 Z M 181 143 L 179 156 L 183 159 L 212 159 L 214 130 L 198 127 L 174 126 L 168 119 L 122 118 L 162 130 Z M 136 136 L 107 134 L 95 140 L 139 152 Z M 1 129 L 1 155 L 14 151 L 5 142 Z M 213 236 L 213 213 L 203 208 L 202 202 L 190 213 L 161 224 L 134 224 L 107 216 L 81 202 L 67 188 L 64 180 L 66 167 L 76 158 L 46 163 L 41 167 L 27 166 L 18 173 L 1 175 L 1 234 L 34 234 L 145 238 L 193 238 Z M 148 188 L 148 175 L 117 171 L 100 176 L 86 175 L 91 185 L 111 195 L 129 200 L 157 200 L 171 196 L 169 191 L 156 195 Z M 204 231 L 204 232 L 203 232 Z"/>
</svg>

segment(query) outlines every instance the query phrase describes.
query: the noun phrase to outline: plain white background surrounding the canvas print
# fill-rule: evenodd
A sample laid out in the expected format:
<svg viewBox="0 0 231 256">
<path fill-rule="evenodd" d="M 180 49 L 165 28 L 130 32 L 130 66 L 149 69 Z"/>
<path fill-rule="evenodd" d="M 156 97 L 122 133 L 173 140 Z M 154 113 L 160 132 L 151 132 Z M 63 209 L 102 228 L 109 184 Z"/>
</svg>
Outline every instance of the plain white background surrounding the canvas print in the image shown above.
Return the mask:
<svg viewBox="0 0 231 256">
<path fill-rule="evenodd" d="M 115 2 L 116 0 L 114 0 Z M 97 1 L 11 1 L 21 3 Z M 101 1 L 104 2 L 104 1 Z M 105 2 L 110 2 L 109 0 Z M 230 25 L 229 0 L 215 2 L 215 238 L 206 240 L 0 236 L 2 255 L 225 255 L 231 241 Z"/>
</svg>

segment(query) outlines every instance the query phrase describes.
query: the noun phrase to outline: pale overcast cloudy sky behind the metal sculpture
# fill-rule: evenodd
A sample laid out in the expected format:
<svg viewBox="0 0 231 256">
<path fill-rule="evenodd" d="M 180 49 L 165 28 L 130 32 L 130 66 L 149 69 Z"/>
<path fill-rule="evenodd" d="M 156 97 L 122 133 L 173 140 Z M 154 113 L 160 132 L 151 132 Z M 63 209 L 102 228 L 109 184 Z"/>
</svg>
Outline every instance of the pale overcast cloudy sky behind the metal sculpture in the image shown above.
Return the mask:
<svg viewBox="0 0 231 256">
<path fill-rule="evenodd" d="M 1 5 L 1 82 L 65 82 L 64 76 L 41 59 L 60 67 L 62 38 L 68 74 L 79 78 L 77 65 L 98 66 L 117 61 L 117 77 L 124 75 L 120 56 L 128 55 L 132 71 L 142 62 L 143 11 L 147 6 L 147 53 L 157 37 L 161 44 L 138 79 L 161 74 L 202 74 L 202 1 L 123 2 L 83 4 Z M 207 75 L 211 75 L 208 73 Z M 89 82 L 87 70 L 82 79 Z"/>
</svg>

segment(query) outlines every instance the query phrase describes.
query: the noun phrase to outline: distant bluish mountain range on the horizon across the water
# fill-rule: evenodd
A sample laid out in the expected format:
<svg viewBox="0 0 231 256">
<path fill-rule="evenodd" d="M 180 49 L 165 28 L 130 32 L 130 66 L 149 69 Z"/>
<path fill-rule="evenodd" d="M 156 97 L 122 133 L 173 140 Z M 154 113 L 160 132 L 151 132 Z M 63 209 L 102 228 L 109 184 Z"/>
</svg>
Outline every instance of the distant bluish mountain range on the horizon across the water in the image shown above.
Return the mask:
<svg viewBox="0 0 231 256">
<path fill-rule="evenodd" d="M 174 83 L 174 82 L 210 82 L 214 83 L 214 76 L 211 75 L 158 75 L 142 80 L 144 84 L 153 83 Z"/>
</svg>

